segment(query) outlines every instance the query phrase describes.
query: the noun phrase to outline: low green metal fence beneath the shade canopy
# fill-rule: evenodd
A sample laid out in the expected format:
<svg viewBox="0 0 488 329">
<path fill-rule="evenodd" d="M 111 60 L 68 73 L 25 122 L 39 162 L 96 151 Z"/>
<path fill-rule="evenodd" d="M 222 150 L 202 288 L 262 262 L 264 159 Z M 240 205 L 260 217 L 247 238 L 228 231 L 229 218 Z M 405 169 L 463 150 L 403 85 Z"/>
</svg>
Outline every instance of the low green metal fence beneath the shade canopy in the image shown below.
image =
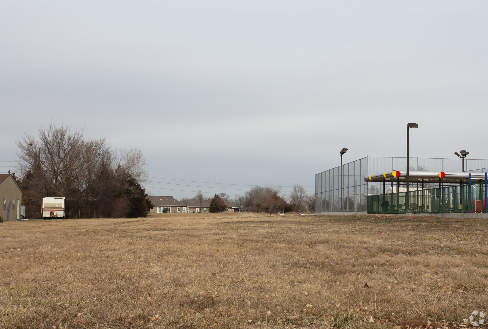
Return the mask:
<svg viewBox="0 0 488 329">
<path fill-rule="evenodd" d="M 475 213 L 488 212 L 487 183 L 411 190 L 369 195 L 367 212 L 390 213 Z"/>
</svg>

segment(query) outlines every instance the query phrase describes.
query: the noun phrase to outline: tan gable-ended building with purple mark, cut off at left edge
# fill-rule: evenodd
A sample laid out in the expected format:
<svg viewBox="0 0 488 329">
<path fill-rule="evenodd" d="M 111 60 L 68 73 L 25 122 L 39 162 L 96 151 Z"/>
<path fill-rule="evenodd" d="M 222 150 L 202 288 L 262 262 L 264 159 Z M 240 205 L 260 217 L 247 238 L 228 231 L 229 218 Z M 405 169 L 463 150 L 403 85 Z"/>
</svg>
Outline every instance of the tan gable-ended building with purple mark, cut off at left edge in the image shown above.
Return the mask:
<svg viewBox="0 0 488 329">
<path fill-rule="evenodd" d="M 10 174 L 0 174 L 0 216 L 4 221 L 20 219 L 22 191 Z"/>
</svg>

